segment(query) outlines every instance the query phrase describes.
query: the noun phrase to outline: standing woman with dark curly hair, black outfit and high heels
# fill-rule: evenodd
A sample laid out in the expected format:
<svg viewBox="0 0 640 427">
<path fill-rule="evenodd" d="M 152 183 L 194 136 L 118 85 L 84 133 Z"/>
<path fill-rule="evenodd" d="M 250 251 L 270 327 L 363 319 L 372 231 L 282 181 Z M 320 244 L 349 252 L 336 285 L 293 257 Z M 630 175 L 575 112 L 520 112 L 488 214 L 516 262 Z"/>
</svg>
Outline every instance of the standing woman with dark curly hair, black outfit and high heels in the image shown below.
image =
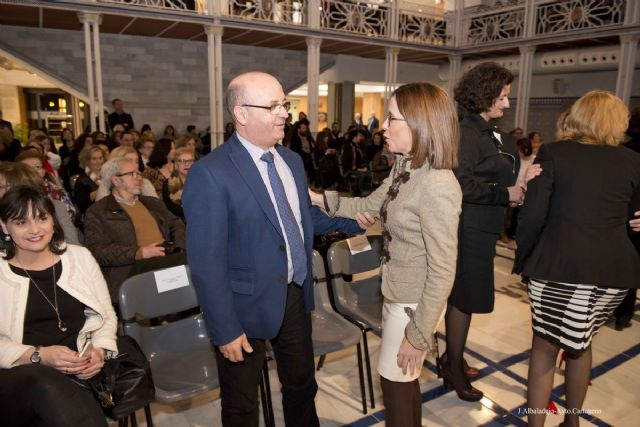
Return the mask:
<svg viewBox="0 0 640 427">
<path fill-rule="evenodd" d="M 494 302 L 493 258 L 509 203 L 522 203 L 524 192 L 514 185 L 518 171 L 513 155 L 503 150 L 501 136 L 489 124 L 509 108 L 513 75 L 485 62 L 469 70 L 455 88 L 460 121 L 459 166 L 462 214 L 458 228 L 456 281 L 449 297 L 445 324 L 447 351 L 439 360 L 446 385 L 467 401 L 482 399 L 469 382 L 478 371 L 464 361 L 472 313 L 491 313 Z"/>
</svg>

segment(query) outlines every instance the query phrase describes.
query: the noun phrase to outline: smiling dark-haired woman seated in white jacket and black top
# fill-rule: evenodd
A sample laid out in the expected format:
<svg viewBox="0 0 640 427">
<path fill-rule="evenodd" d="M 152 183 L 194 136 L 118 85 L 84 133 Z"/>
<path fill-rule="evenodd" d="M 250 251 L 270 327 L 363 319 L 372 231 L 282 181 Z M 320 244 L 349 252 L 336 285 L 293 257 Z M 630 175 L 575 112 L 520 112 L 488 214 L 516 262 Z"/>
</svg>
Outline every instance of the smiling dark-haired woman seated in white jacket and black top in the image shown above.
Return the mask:
<svg viewBox="0 0 640 427">
<path fill-rule="evenodd" d="M 100 267 L 87 249 L 65 245 L 51 200 L 36 188 L 4 195 L 0 226 L 3 425 L 105 427 L 100 404 L 75 381 L 118 351 Z"/>
</svg>

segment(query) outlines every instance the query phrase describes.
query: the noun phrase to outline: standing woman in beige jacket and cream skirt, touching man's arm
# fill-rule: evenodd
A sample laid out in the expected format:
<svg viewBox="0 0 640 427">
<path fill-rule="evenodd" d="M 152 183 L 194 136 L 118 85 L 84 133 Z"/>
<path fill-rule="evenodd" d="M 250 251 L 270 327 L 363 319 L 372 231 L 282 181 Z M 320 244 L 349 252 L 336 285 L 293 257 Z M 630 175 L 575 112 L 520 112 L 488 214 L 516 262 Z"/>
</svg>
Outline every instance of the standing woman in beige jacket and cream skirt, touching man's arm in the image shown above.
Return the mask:
<svg viewBox="0 0 640 427">
<path fill-rule="evenodd" d="M 366 198 L 312 194 L 330 215 L 382 219 L 381 376 L 387 426 L 420 426 L 418 377 L 456 272 L 462 192 L 458 119 L 440 87 L 411 83 L 395 90 L 383 123 L 397 155 L 390 176 Z"/>
</svg>

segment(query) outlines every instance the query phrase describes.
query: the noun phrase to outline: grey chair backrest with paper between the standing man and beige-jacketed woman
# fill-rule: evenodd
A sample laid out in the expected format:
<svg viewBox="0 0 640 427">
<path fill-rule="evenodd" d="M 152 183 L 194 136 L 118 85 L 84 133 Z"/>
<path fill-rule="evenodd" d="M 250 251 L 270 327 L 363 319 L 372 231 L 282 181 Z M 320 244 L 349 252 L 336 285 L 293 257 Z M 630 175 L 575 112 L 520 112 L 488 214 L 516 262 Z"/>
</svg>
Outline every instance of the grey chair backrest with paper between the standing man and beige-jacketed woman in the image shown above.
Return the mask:
<svg viewBox="0 0 640 427">
<path fill-rule="evenodd" d="M 331 289 L 338 310 L 341 306 L 353 307 L 382 300 L 381 278 L 376 273 L 380 267 L 382 236 L 367 236 L 367 239 L 370 251 L 352 255 L 347 241 L 343 240 L 331 245 L 327 252 Z"/>
</svg>

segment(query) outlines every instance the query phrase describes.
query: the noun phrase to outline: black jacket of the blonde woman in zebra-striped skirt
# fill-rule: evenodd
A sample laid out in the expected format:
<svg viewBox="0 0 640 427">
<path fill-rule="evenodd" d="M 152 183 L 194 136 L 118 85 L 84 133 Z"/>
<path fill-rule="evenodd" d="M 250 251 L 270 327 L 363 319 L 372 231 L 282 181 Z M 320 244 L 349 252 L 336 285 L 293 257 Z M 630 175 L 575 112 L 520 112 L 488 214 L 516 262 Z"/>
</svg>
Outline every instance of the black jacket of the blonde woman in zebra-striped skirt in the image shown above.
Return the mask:
<svg viewBox="0 0 640 427">
<path fill-rule="evenodd" d="M 560 141 L 540 147 L 518 218 L 515 273 L 612 288 L 640 285 L 628 220 L 640 210 L 640 155 Z"/>
</svg>

